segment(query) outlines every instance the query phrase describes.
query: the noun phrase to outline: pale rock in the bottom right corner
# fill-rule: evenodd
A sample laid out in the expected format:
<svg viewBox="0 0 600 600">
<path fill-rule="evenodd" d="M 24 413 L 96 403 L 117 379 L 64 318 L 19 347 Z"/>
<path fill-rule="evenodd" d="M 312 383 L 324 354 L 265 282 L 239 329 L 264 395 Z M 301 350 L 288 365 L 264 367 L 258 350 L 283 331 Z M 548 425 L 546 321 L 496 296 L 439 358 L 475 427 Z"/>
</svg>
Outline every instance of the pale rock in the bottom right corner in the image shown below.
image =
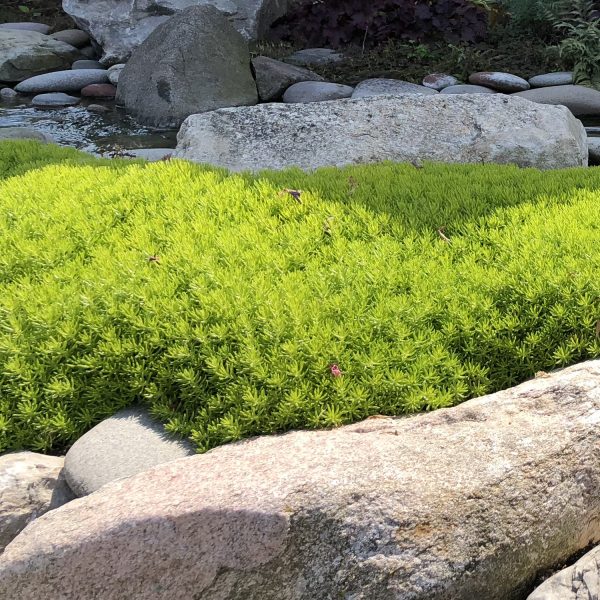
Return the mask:
<svg viewBox="0 0 600 600">
<path fill-rule="evenodd" d="M 527 600 L 598 600 L 600 546 L 544 581 Z"/>
</svg>

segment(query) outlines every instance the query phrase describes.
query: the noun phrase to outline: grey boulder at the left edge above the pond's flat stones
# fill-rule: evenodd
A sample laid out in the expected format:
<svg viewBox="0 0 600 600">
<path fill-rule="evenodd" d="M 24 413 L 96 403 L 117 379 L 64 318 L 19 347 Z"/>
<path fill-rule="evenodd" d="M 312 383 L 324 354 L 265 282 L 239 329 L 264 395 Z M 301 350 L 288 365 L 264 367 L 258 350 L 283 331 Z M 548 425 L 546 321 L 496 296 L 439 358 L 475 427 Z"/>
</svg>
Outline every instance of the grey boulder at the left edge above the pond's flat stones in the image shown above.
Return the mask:
<svg viewBox="0 0 600 600">
<path fill-rule="evenodd" d="M 23 81 L 68 69 L 78 58 L 73 46 L 37 31 L 0 29 L 0 81 Z"/>
</svg>

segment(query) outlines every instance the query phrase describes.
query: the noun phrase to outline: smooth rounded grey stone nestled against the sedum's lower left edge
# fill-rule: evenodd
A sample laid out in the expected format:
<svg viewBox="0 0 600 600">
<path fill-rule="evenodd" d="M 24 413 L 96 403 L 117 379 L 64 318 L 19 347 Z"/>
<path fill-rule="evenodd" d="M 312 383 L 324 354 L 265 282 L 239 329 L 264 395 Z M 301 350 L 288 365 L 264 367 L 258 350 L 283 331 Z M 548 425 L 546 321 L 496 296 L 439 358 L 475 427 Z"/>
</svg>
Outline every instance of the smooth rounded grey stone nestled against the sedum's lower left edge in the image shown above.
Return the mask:
<svg viewBox="0 0 600 600">
<path fill-rule="evenodd" d="M 118 412 L 80 437 L 65 457 L 65 476 L 77 496 L 156 465 L 195 454 L 139 408 Z"/>
</svg>

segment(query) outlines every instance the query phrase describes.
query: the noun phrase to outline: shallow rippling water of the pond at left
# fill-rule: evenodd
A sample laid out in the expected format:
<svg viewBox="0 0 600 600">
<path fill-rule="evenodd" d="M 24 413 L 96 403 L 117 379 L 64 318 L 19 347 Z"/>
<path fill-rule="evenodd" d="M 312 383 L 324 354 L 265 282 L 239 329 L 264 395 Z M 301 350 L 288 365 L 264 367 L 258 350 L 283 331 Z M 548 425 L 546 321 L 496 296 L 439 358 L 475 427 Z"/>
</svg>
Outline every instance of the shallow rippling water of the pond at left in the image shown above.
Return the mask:
<svg viewBox="0 0 600 600">
<path fill-rule="evenodd" d="M 34 108 L 29 99 L 0 104 L 0 127 L 33 127 L 58 143 L 93 154 L 111 155 L 132 148 L 174 148 L 176 130 L 143 127 L 114 104 L 106 113 L 87 110 L 85 102 L 69 108 Z M 103 104 L 95 101 L 93 104 Z"/>
</svg>

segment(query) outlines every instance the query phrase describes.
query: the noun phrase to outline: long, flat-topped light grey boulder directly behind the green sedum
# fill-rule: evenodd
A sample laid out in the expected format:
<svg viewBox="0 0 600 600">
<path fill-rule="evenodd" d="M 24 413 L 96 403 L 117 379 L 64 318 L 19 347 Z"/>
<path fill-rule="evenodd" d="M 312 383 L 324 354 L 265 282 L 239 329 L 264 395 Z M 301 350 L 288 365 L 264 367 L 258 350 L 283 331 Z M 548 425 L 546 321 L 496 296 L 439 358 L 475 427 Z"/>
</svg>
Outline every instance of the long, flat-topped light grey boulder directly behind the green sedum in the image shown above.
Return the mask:
<svg viewBox="0 0 600 600">
<path fill-rule="evenodd" d="M 234 171 L 383 160 L 550 169 L 588 160 L 585 129 L 566 108 L 501 94 L 411 94 L 224 109 L 189 117 L 177 140 L 176 157 Z"/>
</svg>

